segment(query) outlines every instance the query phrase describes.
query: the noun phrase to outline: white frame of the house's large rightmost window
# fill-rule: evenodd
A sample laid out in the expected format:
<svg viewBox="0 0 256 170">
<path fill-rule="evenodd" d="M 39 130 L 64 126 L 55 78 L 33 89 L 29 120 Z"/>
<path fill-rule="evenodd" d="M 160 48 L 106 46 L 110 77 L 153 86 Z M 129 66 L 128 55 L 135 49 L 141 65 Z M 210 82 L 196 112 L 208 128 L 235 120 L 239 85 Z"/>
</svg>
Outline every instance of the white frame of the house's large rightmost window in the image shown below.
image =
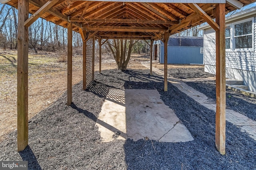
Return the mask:
<svg viewBox="0 0 256 170">
<path fill-rule="evenodd" d="M 252 21 L 252 33 L 235 36 L 235 25 L 236 25 L 236 24 L 239 24 L 239 23 L 244 23 L 244 22 L 247 22 L 247 21 Z M 232 35 L 232 36 L 230 37 L 230 49 L 232 49 L 232 51 L 254 51 L 254 17 L 252 17 L 252 18 L 247 18 L 247 19 L 245 19 L 245 20 L 236 21 L 236 22 L 232 23 L 230 27 L 231 27 L 231 29 L 230 29 L 230 35 Z M 240 49 L 236 49 L 235 38 L 236 38 L 236 37 L 246 36 L 246 35 L 252 35 L 252 48 L 240 48 Z M 226 50 L 229 50 L 229 49 L 226 49 Z"/>
</svg>

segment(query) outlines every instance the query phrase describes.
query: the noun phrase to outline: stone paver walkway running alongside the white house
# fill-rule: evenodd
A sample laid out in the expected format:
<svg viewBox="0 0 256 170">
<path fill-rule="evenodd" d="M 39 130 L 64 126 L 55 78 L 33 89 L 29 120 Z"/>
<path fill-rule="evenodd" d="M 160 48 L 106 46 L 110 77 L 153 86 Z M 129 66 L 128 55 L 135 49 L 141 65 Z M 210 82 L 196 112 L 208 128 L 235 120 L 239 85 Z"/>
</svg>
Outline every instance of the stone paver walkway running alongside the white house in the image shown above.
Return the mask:
<svg viewBox="0 0 256 170">
<path fill-rule="evenodd" d="M 142 63 L 142 65 L 150 69 L 147 62 Z M 152 71 L 156 72 L 156 74 L 160 76 L 164 76 L 164 72 L 162 70 L 152 67 Z M 209 100 L 207 96 L 198 92 L 197 90 L 194 90 L 182 80 L 168 76 L 168 81 L 176 86 L 180 91 L 193 98 L 196 102 L 200 103 L 204 107 L 207 107 L 208 109 L 216 111 L 216 103 L 214 101 Z M 240 127 L 242 131 L 245 131 L 250 137 L 256 140 L 256 121 L 231 109 L 226 109 L 226 120 Z"/>
</svg>

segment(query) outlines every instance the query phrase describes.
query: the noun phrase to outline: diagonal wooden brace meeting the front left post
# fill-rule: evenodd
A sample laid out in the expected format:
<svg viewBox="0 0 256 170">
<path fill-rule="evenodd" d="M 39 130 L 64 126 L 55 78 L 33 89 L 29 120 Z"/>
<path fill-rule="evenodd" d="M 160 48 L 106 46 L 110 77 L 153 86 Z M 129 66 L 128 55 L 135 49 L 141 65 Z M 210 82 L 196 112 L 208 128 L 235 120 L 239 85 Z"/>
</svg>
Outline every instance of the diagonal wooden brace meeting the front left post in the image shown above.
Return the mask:
<svg viewBox="0 0 256 170">
<path fill-rule="evenodd" d="M 54 4 L 56 4 L 59 0 L 49 0 L 46 2 L 39 10 L 37 10 L 28 20 L 25 21 L 24 25 L 29 27 L 34 21 L 36 21 L 39 17 L 42 16 L 46 11 L 48 11 Z"/>
</svg>

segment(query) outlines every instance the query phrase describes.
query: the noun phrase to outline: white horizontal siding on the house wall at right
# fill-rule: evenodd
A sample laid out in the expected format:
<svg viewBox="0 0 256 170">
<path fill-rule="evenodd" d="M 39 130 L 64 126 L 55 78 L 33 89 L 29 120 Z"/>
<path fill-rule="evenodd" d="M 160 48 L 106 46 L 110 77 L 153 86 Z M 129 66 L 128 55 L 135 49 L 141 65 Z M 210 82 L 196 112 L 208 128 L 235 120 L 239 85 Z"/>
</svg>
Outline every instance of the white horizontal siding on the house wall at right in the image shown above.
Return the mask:
<svg viewBox="0 0 256 170">
<path fill-rule="evenodd" d="M 256 18 L 254 18 L 254 50 L 226 50 L 226 78 L 243 80 L 244 84 L 256 92 Z M 206 29 L 204 35 L 205 71 L 216 74 L 215 31 Z"/>
</svg>

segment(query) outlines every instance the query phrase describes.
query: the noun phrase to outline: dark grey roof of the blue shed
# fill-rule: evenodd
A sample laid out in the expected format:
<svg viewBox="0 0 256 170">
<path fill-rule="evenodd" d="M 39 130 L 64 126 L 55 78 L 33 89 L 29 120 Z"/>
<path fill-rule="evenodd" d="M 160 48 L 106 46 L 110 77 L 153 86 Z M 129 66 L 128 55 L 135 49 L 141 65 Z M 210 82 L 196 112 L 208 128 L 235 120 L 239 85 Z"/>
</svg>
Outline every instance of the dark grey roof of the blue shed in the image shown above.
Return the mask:
<svg viewBox="0 0 256 170">
<path fill-rule="evenodd" d="M 168 46 L 204 47 L 204 37 L 178 37 L 170 36 Z"/>
</svg>

